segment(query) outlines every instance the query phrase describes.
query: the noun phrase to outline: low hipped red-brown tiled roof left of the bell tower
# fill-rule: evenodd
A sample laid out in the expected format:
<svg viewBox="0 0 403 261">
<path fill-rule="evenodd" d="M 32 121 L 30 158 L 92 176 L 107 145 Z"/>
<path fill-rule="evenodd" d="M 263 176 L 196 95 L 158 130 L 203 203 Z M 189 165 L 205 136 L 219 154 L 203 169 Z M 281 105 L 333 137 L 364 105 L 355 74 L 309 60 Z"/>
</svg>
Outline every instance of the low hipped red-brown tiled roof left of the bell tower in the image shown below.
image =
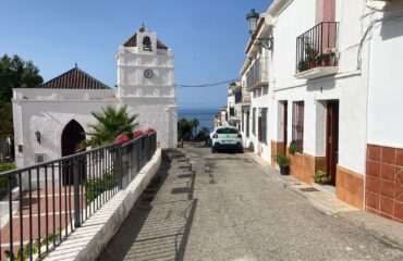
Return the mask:
<svg viewBox="0 0 403 261">
<path fill-rule="evenodd" d="M 110 89 L 89 74 L 74 67 L 40 86 L 44 89 Z"/>
</svg>

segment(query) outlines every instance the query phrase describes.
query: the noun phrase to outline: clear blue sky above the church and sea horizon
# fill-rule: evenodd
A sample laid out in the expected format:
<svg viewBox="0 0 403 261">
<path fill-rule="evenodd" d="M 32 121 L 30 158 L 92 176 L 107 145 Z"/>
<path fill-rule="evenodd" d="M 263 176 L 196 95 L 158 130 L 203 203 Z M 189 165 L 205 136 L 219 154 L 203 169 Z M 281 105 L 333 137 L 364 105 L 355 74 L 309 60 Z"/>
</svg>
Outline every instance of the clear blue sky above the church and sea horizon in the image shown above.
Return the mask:
<svg viewBox="0 0 403 261">
<path fill-rule="evenodd" d="M 240 77 L 249 34 L 246 13 L 271 0 L 1 0 L 0 54 L 32 60 L 49 80 L 75 63 L 117 85 L 118 47 L 144 23 L 174 52 L 175 84 Z M 179 109 L 219 109 L 227 85 L 178 88 Z"/>
</svg>

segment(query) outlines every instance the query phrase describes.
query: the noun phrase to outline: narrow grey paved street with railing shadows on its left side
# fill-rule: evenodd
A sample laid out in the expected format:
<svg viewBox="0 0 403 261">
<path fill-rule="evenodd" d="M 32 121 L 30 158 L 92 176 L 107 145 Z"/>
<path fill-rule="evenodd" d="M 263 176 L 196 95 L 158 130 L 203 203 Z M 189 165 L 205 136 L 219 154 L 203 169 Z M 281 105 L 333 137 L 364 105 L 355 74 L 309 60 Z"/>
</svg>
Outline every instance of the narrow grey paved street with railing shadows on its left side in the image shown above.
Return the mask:
<svg viewBox="0 0 403 261">
<path fill-rule="evenodd" d="M 318 211 L 247 154 L 185 154 L 164 158 L 99 260 L 403 260 L 402 247 Z"/>
</svg>

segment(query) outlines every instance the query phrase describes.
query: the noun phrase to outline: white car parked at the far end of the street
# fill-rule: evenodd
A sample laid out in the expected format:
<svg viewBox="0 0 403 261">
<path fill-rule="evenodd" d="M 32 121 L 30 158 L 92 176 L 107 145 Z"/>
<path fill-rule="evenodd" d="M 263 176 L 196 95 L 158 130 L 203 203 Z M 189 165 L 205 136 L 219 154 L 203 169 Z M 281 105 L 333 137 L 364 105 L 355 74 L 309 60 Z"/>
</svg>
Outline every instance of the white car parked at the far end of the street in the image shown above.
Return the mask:
<svg viewBox="0 0 403 261">
<path fill-rule="evenodd" d="M 236 150 L 241 153 L 244 151 L 242 146 L 242 135 L 235 127 L 218 126 L 210 134 L 210 139 L 212 153 L 218 150 Z"/>
</svg>

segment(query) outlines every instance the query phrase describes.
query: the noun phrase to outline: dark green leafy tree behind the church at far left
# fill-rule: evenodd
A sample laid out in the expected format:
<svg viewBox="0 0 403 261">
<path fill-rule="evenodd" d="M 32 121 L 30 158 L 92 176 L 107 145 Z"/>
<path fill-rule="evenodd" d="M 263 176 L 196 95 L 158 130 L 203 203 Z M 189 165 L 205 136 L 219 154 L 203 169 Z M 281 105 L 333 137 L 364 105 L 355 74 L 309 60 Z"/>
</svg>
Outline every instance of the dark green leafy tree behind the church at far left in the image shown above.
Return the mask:
<svg viewBox="0 0 403 261">
<path fill-rule="evenodd" d="M 35 88 L 44 83 L 39 69 L 32 61 L 14 54 L 0 58 L 0 100 L 11 101 L 13 88 Z"/>
</svg>

